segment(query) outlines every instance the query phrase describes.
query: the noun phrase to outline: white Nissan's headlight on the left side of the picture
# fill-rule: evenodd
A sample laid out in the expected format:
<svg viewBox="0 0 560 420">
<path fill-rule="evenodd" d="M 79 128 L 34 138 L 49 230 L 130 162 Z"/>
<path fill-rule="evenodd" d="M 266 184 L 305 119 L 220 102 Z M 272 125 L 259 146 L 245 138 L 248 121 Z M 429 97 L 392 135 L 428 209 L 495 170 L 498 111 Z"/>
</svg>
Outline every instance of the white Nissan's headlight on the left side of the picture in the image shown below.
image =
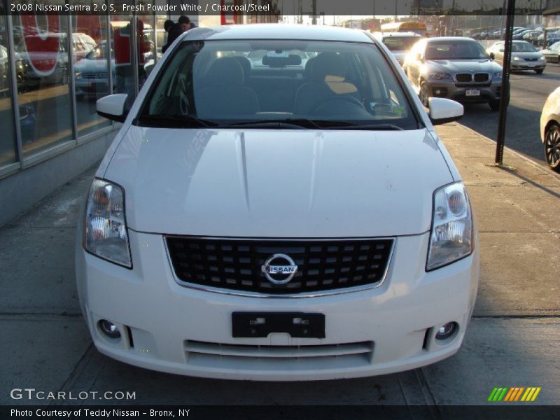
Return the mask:
<svg viewBox="0 0 560 420">
<path fill-rule="evenodd" d="M 125 191 L 94 179 L 87 197 L 83 246 L 99 258 L 132 267 L 125 221 Z"/>
</svg>

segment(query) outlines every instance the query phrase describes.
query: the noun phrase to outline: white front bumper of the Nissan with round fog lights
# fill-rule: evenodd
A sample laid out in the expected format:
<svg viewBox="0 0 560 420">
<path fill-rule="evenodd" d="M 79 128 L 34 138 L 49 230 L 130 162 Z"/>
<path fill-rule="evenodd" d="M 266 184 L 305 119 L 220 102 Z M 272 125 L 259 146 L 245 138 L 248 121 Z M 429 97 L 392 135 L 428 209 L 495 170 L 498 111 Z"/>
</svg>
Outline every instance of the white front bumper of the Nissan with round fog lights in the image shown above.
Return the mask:
<svg viewBox="0 0 560 420">
<path fill-rule="evenodd" d="M 478 282 L 478 252 L 426 272 L 428 233 L 398 237 L 378 288 L 319 297 L 244 297 L 180 286 L 162 235 L 129 230 L 133 269 L 76 244 L 78 294 L 97 349 L 148 369 L 196 377 L 315 380 L 366 377 L 428 365 L 458 351 Z M 348 290 L 346 290 L 348 292 Z M 233 338 L 232 312 L 325 314 L 325 338 Z M 110 339 L 98 322 L 121 332 Z M 437 327 L 455 321 L 438 342 Z"/>
</svg>

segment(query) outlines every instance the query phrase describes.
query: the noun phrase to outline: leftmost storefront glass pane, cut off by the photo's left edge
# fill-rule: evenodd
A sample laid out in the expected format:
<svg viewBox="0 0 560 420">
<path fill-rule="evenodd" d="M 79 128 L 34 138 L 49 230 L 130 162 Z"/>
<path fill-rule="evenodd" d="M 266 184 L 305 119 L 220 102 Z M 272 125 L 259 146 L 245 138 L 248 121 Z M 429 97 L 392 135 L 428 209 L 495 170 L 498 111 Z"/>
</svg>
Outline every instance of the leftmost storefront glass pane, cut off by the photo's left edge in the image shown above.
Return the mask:
<svg viewBox="0 0 560 420">
<path fill-rule="evenodd" d="M 16 66 L 20 60 L 16 57 Z M 18 74 L 19 77 L 19 74 Z M 15 147 L 15 134 L 13 130 L 12 90 L 10 87 L 10 60 L 8 55 L 8 34 L 6 32 L 6 12 L 3 3 L 0 3 L 0 168 L 13 162 L 17 162 Z M 26 120 L 25 109 L 20 110 L 20 118 L 24 118 L 23 125 L 29 123 Z"/>
</svg>

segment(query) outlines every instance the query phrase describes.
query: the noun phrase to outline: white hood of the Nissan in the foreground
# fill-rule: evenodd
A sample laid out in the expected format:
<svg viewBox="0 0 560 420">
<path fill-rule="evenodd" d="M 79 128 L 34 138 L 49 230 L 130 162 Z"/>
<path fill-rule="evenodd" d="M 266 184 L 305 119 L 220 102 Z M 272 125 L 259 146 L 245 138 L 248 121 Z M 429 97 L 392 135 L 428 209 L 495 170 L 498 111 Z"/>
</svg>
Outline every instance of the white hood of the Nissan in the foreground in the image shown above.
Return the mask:
<svg viewBox="0 0 560 420">
<path fill-rule="evenodd" d="M 129 228 L 220 237 L 419 234 L 453 181 L 427 130 L 136 126 L 104 177 L 125 188 Z"/>
</svg>

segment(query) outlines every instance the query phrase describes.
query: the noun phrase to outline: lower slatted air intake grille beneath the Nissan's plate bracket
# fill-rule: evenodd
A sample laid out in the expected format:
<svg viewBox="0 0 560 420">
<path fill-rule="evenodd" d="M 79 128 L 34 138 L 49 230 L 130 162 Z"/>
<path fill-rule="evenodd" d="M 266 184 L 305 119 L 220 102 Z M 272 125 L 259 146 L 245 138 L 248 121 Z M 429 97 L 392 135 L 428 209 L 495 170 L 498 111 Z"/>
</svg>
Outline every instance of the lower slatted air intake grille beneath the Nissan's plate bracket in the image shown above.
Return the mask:
<svg viewBox="0 0 560 420">
<path fill-rule="evenodd" d="M 259 346 L 221 344 L 187 340 L 185 353 L 190 365 L 228 367 L 238 370 L 320 370 L 370 365 L 373 342 L 321 344 L 310 346 Z"/>
</svg>

